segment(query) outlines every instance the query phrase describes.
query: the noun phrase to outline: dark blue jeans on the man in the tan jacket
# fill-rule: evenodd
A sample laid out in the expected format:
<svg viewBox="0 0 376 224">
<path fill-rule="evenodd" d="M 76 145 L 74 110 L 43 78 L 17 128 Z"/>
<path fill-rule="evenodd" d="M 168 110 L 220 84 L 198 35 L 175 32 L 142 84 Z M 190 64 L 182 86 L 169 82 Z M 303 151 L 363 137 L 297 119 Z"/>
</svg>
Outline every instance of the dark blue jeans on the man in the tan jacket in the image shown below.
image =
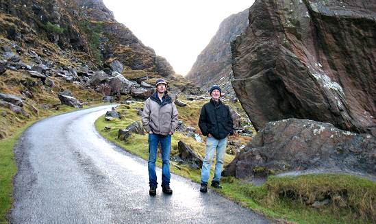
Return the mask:
<svg viewBox="0 0 376 224">
<path fill-rule="evenodd" d="M 162 186 L 170 185 L 170 151 L 171 135 L 149 134 L 149 186 L 158 186 L 157 174 L 155 173 L 155 161 L 157 160 L 158 143 L 162 147 Z"/>
</svg>

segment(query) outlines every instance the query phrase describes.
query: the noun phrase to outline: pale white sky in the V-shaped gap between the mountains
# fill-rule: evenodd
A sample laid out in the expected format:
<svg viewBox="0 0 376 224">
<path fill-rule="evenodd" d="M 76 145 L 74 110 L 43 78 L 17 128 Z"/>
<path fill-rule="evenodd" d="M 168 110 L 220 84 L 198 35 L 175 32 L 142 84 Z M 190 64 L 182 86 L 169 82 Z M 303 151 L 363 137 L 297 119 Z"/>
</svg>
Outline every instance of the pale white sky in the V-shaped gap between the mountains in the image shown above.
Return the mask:
<svg viewBox="0 0 376 224">
<path fill-rule="evenodd" d="M 208 45 L 219 24 L 253 0 L 103 0 L 116 21 L 126 25 L 144 45 L 166 58 L 176 73 L 186 75 Z"/>
</svg>

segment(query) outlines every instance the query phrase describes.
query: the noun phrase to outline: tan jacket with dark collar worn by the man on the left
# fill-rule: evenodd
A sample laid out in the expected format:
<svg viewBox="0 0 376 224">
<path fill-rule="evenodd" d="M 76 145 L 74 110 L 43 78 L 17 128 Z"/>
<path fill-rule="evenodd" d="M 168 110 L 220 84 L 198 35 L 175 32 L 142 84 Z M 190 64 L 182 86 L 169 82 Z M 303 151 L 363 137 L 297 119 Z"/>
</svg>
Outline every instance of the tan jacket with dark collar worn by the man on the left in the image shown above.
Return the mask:
<svg viewBox="0 0 376 224">
<path fill-rule="evenodd" d="M 174 133 L 177 127 L 177 108 L 173 99 L 168 95 L 164 96 L 163 103 L 154 92 L 151 97 L 145 101 L 142 112 L 142 125 L 147 132 L 153 134 L 168 135 Z"/>
</svg>

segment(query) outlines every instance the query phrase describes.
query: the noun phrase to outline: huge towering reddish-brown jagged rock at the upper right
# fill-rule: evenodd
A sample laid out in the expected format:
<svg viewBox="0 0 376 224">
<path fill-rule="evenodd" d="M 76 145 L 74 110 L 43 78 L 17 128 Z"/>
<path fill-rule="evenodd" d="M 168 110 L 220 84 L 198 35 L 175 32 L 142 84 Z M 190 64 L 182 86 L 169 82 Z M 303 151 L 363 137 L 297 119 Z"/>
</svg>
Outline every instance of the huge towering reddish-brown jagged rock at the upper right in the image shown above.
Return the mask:
<svg viewBox="0 0 376 224">
<path fill-rule="evenodd" d="M 231 44 L 253 126 L 290 117 L 376 134 L 376 2 L 257 0 Z"/>
</svg>

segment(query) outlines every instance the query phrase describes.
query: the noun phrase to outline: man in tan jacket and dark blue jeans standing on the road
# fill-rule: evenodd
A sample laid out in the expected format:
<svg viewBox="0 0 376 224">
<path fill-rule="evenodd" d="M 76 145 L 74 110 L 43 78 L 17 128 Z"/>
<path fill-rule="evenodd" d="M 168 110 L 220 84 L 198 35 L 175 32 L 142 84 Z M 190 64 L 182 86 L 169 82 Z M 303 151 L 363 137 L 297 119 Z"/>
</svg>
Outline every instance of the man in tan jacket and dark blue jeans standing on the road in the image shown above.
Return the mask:
<svg viewBox="0 0 376 224">
<path fill-rule="evenodd" d="M 149 195 L 157 193 L 157 160 L 158 144 L 162 147 L 162 191 L 168 195 L 173 193 L 170 188 L 170 151 L 171 135 L 177 127 L 177 108 L 173 99 L 166 94 L 166 81 L 157 79 L 156 91 L 145 101 L 142 112 L 142 125 L 149 133 Z"/>
</svg>

